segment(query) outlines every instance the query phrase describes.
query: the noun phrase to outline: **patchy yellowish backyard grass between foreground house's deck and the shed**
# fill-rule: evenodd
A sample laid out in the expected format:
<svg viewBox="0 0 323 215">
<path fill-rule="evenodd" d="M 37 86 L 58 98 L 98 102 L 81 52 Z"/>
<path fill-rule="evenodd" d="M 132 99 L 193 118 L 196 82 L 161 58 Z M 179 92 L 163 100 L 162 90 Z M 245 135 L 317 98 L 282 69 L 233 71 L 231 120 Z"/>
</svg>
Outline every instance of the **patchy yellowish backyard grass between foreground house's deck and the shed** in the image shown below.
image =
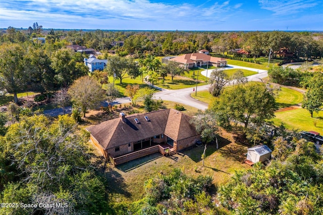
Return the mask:
<svg viewBox="0 0 323 215">
<path fill-rule="evenodd" d="M 220 145 L 224 147 L 216 150 L 216 146 L 208 145 L 206 149 L 205 166 L 202 167 L 201 155 L 204 147 L 195 147 L 183 151 L 183 154 L 171 157 L 161 157 L 153 154 L 115 168 L 108 168 L 105 177 L 109 181 L 108 190 L 113 192 L 114 200 L 133 201 L 143 197 L 144 182 L 161 172 L 170 173 L 174 168 L 181 168 L 187 175 L 210 175 L 214 184 L 227 182 L 235 171 L 250 168 L 244 164 L 247 147 L 231 142 L 231 134 L 222 135 Z M 229 144 L 229 145 L 227 145 Z"/>
</svg>

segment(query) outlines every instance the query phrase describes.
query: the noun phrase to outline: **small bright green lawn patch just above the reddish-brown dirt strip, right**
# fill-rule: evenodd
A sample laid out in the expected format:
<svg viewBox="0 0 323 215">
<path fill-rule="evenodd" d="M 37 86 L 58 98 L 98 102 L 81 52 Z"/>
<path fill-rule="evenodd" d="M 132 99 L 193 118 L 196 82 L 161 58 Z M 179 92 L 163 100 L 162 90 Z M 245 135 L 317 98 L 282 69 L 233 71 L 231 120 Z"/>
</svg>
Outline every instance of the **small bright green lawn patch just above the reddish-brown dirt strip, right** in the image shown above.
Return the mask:
<svg viewBox="0 0 323 215">
<path fill-rule="evenodd" d="M 285 108 L 299 104 L 302 102 L 302 100 L 302 93 L 285 87 L 280 88 L 280 91 L 278 92 L 278 97 L 276 98 L 276 102 L 278 103 L 278 106 L 280 108 Z"/>
</svg>

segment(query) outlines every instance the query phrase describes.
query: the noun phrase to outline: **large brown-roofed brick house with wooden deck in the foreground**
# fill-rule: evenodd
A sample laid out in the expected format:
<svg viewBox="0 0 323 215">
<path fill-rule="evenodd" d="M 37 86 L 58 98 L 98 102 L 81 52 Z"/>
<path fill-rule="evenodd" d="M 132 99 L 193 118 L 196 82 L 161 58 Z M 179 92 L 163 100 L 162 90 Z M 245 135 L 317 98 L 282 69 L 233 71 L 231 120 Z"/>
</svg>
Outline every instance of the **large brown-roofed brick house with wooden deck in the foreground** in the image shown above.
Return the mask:
<svg viewBox="0 0 323 215">
<path fill-rule="evenodd" d="M 126 116 L 91 126 L 90 140 L 101 154 L 121 164 L 149 154 L 177 153 L 195 145 L 200 135 L 191 117 L 174 109 Z"/>
</svg>

